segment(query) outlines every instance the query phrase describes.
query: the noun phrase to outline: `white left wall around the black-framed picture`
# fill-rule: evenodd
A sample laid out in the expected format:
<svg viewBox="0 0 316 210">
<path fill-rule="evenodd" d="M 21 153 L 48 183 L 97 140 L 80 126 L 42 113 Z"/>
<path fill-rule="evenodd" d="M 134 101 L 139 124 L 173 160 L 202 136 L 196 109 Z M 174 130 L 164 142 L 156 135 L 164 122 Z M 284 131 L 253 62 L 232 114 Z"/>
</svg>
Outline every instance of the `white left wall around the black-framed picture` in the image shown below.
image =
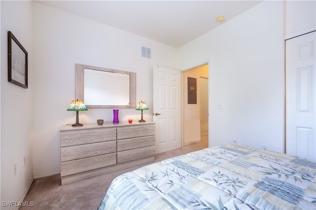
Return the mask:
<svg viewBox="0 0 316 210">
<path fill-rule="evenodd" d="M 0 1 L 1 4 L 1 202 L 23 201 L 33 178 L 32 91 L 32 2 Z M 11 31 L 28 52 L 29 88 L 7 81 L 7 31 Z M 23 164 L 26 156 L 26 165 Z M 14 175 L 13 165 L 17 166 Z M 2 204 L 2 203 L 1 203 Z M 2 207 L 1 209 L 12 209 Z"/>
</svg>

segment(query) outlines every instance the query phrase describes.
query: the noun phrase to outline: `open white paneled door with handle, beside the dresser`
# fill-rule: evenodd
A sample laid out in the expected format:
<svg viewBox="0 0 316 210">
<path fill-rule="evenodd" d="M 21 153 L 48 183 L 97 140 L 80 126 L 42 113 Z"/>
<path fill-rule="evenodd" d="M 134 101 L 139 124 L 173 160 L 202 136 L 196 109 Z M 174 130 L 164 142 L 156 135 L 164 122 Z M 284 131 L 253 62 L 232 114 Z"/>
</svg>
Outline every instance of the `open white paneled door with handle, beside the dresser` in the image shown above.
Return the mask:
<svg viewBox="0 0 316 210">
<path fill-rule="evenodd" d="M 156 154 L 181 147 L 181 71 L 154 66 Z"/>
</svg>

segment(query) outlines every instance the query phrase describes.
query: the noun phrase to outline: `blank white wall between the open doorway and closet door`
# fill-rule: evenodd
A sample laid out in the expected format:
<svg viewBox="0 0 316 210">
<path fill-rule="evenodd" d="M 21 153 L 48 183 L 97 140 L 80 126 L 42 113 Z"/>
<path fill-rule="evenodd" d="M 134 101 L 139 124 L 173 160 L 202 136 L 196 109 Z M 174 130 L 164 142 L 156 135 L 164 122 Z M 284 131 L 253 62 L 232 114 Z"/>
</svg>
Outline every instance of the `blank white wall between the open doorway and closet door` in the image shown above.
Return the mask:
<svg viewBox="0 0 316 210">
<path fill-rule="evenodd" d="M 282 1 L 258 4 L 181 47 L 179 58 L 182 70 L 209 61 L 210 146 L 283 151 Z"/>
</svg>

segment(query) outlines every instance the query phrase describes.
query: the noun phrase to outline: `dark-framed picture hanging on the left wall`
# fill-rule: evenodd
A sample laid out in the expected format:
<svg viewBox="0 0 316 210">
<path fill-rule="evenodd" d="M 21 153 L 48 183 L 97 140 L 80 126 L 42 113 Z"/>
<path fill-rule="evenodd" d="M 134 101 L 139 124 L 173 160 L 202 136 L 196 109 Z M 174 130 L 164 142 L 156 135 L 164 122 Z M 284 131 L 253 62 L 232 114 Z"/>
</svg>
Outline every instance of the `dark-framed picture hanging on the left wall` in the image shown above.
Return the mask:
<svg viewBox="0 0 316 210">
<path fill-rule="evenodd" d="M 28 52 L 8 31 L 8 81 L 28 88 Z"/>
</svg>

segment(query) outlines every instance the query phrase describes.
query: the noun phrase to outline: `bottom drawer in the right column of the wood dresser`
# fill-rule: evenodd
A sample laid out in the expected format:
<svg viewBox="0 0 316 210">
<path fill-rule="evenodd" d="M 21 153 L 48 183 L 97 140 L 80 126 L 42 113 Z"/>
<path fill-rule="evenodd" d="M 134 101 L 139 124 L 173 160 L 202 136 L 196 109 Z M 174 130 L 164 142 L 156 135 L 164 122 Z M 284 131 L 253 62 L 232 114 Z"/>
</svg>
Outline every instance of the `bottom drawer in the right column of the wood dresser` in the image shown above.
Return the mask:
<svg viewBox="0 0 316 210">
<path fill-rule="evenodd" d="M 138 149 L 131 149 L 118 152 L 118 163 L 137 160 L 155 155 L 155 146 L 147 146 Z"/>
</svg>

